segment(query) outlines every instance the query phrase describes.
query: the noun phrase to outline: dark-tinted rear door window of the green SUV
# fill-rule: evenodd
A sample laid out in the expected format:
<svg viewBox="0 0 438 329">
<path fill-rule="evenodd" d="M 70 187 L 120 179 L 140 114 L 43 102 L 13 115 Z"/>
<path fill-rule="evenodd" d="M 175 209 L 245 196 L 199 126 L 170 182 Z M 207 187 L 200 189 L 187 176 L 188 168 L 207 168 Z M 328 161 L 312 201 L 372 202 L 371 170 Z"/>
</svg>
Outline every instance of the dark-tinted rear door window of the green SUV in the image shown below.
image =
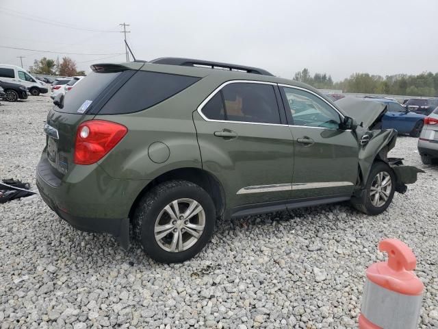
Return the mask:
<svg viewBox="0 0 438 329">
<path fill-rule="evenodd" d="M 203 107 L 209 119 L 281 123 L 274 87 L 270 84 L 227 84 Z"/>
</svg>

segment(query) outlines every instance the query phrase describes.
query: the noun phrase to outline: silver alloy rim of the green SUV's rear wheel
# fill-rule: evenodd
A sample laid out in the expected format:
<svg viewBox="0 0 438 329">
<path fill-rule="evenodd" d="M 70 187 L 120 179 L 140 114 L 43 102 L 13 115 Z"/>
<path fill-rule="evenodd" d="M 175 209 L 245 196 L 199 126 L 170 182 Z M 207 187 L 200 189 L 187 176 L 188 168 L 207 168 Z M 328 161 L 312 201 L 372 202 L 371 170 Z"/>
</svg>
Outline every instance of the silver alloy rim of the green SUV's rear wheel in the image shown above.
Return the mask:
<svg viewBox="0 0 438 329">
<path fill-rule="evenodd" d="M 205 228 L 205 211 L 194 199 L 170 202 L 159 212 L 154 226 L 155 241 L 167 252 L 183 252 L 194 245 Z"/>
</svg>

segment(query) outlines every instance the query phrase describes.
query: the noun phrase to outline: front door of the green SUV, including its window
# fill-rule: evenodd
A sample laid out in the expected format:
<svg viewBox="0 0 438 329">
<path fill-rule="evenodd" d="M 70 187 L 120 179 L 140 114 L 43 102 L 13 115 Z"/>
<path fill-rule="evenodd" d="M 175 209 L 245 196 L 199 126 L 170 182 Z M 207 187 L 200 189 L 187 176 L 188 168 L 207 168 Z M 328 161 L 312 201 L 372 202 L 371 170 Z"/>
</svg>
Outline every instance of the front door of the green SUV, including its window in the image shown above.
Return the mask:
<svg viewBox="0 0 438 329">
<path fill-rule="evenodd" d="M 352 131 L 339 129 L 342 114 L 311 90 L 281 89 L 294 136 L 292 197 L 351 195 L 359 145 Z"/>
</svg>

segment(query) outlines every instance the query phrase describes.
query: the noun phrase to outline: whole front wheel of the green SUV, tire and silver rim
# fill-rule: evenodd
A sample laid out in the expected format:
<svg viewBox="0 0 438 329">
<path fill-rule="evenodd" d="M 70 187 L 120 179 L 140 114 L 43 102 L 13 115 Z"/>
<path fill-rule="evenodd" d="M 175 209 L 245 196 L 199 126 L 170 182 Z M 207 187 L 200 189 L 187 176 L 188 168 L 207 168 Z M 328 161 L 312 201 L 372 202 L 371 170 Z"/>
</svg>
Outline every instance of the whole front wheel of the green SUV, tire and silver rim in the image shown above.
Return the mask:
<svg viewBox="0 0 438 329">
<path fill-rule="evenodd" d="M 385 162 L 374 162 L 362 197 L 352 197 L 351 204 L 367 215 L 379 215 L 391 204 L 396 191 L 396 176 Z"/>
</svg>

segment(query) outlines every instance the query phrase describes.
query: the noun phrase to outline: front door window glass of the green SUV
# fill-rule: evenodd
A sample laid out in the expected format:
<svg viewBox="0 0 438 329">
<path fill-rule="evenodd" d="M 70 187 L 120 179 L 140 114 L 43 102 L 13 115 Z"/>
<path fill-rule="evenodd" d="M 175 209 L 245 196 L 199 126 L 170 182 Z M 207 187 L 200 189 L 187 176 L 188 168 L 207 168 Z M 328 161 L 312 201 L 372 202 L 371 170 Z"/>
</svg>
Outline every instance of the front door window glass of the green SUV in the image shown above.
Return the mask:
<svg viewBox="0 0 438 329">
<path fill-rule="evenodd" d="M 294 125 L 339 128 L 341 118 L 328 103 L 305 90 L 283 87 Z"/>
</svg>

